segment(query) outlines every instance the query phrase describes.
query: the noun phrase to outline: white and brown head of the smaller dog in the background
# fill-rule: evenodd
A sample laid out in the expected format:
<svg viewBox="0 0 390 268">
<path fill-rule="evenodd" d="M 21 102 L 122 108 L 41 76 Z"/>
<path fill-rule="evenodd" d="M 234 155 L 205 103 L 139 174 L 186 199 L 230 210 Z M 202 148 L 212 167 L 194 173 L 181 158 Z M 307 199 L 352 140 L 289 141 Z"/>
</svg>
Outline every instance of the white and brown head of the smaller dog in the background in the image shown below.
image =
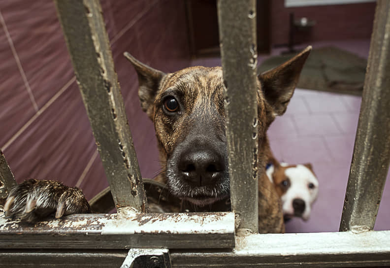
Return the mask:
<svg viewBox="0 0 390 268">
<path fill-rule="evenodd" d="M 319 186 L 312 165 L 290 165 L 272 159 L 267 164 L 266 174 L 282 200 L 285 221 L 292 217 L 308 220 Z"/>
</svg>

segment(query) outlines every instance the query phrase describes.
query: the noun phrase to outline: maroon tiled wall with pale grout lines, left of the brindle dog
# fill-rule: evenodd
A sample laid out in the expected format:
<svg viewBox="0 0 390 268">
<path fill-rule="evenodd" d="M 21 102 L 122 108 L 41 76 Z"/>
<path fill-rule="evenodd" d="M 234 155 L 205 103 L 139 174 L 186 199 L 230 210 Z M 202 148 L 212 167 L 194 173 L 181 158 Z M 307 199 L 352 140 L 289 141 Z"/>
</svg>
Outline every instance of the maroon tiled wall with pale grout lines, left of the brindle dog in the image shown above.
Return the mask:
<svg viewBox="0 0 390 268">
<path fill-rule="evenodd" d="M 123 52 L 163 71 L 188 66 L 184 2 L 101 5 L 141 173 L 153 177 L 160 170 L 154 127 L 140 108 L 136 73 Z M 54 2 L 2 0 L 0 15 L 0 148 L 18 182 L 58 179 L 80 186 L 90 199 L 107 182 Z"/>
</svg>

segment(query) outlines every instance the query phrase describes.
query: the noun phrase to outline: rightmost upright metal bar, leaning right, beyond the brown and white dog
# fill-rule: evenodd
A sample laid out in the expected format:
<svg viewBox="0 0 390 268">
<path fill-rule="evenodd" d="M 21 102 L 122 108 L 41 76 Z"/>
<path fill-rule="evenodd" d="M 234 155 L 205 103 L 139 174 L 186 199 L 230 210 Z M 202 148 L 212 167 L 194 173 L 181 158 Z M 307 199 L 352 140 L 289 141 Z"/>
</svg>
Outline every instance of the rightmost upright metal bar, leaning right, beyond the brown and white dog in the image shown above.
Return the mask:
<svg viewBox="0 0 390 268">
<path fill-rule="evenodd" d="M 340 231 L 374 228 L 390 162 L 390 1 L 378 0 Z"/>
</svg>

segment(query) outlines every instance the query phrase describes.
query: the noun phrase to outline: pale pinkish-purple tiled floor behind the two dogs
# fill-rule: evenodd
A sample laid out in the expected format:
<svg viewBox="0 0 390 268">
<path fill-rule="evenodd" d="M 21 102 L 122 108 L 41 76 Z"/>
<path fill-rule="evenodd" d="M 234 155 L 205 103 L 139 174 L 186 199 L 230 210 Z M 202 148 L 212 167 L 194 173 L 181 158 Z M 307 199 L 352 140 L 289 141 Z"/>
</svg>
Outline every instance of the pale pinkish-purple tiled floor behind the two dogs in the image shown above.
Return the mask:
<svg viewBox="0 0 390 268">
<path fill-rule="evenodd" d="M 321 42 L 367 58 L 369 40 Z M 275 49 L 275 55 L 281 49 Z M 268 56 L 260 55 L 259 61 Z M 193 66 L 218 66 L 219 58 L 196 59 Z M 292 219 L 288 233 L 336 232 L 347 186 L 361 97 L 296 89 L 287 112 L 271 125 L 268 136 L 275 157 L 291 164 L 313 164 L 320 181 L 318 200 L 308 221 Z M 390 174 L 385 185 L 375 230 L 390 230 Z"/>
</svg>

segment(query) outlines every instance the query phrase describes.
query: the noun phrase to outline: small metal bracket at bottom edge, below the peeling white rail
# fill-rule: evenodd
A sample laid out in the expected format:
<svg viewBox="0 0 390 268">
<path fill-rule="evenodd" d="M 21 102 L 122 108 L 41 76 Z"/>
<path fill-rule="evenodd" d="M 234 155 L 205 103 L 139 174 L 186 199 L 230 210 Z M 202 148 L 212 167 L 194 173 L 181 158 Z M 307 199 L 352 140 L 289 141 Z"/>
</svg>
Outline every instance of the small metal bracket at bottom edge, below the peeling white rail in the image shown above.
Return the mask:
<svg viewBox="0 0 390 268">
<path fill-rule="evenodd" d="M 166 248 L 131 248 L 121 268 L 171 268 Z"/>
</svg>

